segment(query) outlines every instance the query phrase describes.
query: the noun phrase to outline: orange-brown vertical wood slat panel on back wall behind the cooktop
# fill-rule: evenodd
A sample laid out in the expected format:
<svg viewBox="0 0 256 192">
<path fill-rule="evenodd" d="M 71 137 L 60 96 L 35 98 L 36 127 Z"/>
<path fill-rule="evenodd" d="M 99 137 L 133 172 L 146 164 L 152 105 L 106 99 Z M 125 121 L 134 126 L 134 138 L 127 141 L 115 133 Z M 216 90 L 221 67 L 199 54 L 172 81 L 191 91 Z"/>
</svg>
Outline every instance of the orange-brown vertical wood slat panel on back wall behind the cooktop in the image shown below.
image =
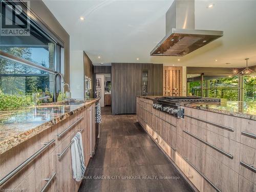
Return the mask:
<svg viewBox="0 0 256 192">
<path fill-rule="evenodd" d="M 163 95 L 182 96 L 182 67 L 163 67 Z"/>
</svg>

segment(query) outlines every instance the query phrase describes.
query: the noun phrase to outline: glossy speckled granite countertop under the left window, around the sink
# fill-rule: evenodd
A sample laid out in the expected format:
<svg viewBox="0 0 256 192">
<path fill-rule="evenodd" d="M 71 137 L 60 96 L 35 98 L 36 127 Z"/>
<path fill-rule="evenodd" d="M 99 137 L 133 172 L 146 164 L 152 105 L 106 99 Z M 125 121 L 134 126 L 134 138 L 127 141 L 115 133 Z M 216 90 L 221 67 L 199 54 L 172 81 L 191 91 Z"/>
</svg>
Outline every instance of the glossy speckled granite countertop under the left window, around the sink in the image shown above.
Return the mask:
<svg viewBox="0 0 256 192">
<path fill-rule="evenodd" d="M 99 99 L 47 103 L 24 110 L 0 111 L 0 154 L 88 108 Z"/>
</svg>

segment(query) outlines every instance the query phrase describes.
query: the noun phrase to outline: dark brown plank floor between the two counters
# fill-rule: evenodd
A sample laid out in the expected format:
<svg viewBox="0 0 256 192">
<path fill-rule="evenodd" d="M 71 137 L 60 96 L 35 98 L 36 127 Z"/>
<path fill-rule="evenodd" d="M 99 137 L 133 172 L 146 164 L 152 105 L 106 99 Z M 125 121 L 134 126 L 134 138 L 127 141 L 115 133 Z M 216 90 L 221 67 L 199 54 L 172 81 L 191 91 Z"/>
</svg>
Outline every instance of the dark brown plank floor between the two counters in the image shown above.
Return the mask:
<svg viewBox="0 0 256 192">
<path fill-rule="evenodd" d="M 136 115 L 111 115 L 109 107 L 102 108 L 100 138 L 86 176 L 80 192 L 193 191 L 136 122 Z"/>
</svg>

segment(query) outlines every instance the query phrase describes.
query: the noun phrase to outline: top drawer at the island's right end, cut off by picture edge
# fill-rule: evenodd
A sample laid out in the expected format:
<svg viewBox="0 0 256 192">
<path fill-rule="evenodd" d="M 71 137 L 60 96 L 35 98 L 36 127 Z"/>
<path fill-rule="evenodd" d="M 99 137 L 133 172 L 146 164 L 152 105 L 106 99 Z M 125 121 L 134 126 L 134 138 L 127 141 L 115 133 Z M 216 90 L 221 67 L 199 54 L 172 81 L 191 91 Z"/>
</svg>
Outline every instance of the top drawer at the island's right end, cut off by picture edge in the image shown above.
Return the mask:
<svg viewBox="0 0 256 192">
<path fill-rule="evenodd" d="M 241 143 L 256 148 L 256 121 L 241 118 Z"/>
</svg>

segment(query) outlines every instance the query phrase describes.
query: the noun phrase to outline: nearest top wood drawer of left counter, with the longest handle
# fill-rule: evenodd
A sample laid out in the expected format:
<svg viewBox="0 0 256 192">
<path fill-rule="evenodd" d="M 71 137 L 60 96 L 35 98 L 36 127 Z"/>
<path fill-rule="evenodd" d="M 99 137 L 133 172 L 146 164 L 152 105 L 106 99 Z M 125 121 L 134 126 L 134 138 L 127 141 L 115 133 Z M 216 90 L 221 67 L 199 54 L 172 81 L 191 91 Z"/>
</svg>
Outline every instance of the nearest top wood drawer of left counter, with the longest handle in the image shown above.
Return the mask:
<svg viewBox="0 0 256 192">
<path fill-rule="evenodd" d="M 0 178 L 4 178 L 12 172 L 16 167 L 26 161 L 29 157 L 36 154 L 44 143 L 52 141 L 51 129 L 45 130 L 29 140 L 11 148 L 9 151 L 0 155 Z M 37 168 L 53 151 L 54 141 L 45 151 L 42 151 L 35 159 L 23 167 L 18 173 L 10 178 L 2 188 L 15 188 L 30 173 Z"/>
</svg>

